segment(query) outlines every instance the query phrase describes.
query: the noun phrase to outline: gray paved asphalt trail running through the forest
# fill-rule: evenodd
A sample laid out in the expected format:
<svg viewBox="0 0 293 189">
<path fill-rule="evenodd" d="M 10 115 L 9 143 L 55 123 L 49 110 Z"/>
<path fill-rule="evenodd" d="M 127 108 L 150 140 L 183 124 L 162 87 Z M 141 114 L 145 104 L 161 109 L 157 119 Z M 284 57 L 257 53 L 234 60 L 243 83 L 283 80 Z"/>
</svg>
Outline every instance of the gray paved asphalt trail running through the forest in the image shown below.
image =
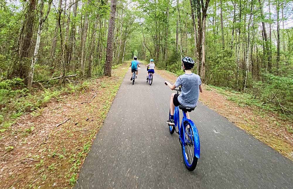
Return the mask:
<svg viewBox="0 0 293 189">
<path fill-rule="evenodd" d="M 293 188 L 293 162 L 199 103 L 191 112 L 200 135 L 193 172 L 166 119 L 172 91 L 142 66 L 128 70 L 75 188 Z"/>
</svg>

